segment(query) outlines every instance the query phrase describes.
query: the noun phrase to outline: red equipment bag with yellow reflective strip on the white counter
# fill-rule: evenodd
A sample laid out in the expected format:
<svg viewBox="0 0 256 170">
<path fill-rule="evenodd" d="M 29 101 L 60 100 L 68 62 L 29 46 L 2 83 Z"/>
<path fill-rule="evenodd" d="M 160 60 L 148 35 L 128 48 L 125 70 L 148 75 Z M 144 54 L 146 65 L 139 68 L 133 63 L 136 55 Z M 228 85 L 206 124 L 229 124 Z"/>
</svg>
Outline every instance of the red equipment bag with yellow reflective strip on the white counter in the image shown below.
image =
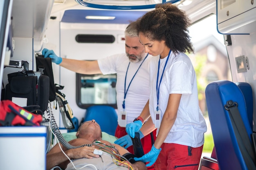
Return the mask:
<svg viewBox="0 0 256 170">
<path fill-rule="evenodd" d="M 10 100 L 0 103 L 0 126 L 40 126 L 42 115 L 31 113 Z"/>
</svg>

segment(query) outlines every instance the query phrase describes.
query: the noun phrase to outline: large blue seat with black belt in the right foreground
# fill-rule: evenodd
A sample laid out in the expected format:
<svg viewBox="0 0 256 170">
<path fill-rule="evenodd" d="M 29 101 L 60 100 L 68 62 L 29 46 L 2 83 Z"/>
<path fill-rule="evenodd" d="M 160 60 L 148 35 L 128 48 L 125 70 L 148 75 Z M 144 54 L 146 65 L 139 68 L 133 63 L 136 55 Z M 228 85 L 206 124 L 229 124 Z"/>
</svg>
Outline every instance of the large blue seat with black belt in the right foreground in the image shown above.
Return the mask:
<svg viewBox="0 0 256 170">
<path fill-rule="evenodd" d="M 248 163 L 247 158 L 243 157 L 242 153 L 245 148 L 239 148 L 239 139 L 235 135 L 236 127 L 232 125 L 229 112 L 224 107 L 230 100 L 238 103 L 238 110 L 245 126 L 245 133 L 249 137 L 249 142 L 251 142 L 252 127 L 248 119 L 251 115 L 247 114 L 249 104 L 247 106 L 245 103 L 243 95 L 245 92 L 240 88 L 241 86 L 239 87 L 233 82 L 221 80 L 210 83 L 205 91 L 216 157 L 220 170 L 256 169 L 254 157 L 252 161 L 249 161 L 250 163 Z"/>
</svg>

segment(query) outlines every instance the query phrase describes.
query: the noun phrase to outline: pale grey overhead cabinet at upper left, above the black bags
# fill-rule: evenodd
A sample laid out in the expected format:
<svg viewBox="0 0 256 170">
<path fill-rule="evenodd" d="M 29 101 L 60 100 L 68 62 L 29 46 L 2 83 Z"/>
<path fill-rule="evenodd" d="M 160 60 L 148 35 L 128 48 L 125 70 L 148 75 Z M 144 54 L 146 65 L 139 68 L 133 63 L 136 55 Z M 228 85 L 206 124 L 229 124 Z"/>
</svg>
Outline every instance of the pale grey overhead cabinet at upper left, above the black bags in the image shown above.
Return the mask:
<svg viewBox="0 0 256 170">
<path fill-rule="evenodd" d="M 42 46 L 54 0 L 13 0 L 13 37 L 33 38 L 35 51 Z"/>
</svg>

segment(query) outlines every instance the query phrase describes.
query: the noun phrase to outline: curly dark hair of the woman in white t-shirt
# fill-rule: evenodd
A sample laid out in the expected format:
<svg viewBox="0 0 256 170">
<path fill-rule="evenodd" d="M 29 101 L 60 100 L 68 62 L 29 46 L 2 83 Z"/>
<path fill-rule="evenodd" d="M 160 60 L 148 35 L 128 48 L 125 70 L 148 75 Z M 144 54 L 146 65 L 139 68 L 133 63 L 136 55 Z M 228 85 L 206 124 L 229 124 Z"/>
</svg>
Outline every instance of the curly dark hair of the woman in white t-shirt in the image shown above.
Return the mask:
<svg viewBox="0 0 256 170">
<path fill-rule="evenodd" d="M 137 20 L 138 33 L 143 33 L 149 40 L 164 40 L 173 53 L 193 53 L 188 27 L 191 21 L 186 13 L 171 3 L 157 4 Z"/>
</svg>

